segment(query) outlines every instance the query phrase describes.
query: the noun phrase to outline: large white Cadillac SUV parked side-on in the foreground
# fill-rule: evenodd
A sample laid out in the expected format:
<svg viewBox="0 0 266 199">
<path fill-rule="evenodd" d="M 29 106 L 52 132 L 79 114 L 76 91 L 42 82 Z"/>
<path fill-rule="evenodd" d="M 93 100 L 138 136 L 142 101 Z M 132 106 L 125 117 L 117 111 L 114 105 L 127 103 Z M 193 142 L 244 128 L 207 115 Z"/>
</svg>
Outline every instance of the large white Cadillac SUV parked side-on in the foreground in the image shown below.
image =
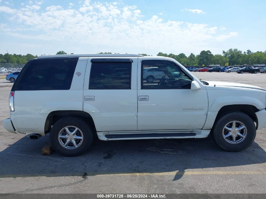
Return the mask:
<svg viewBox="0 0 266 199">
<path fill-rule="evenodd" d="M 12 87 L 9 106 L 6 130 L 50 133 L 52 146 L 65 156 L 86 152 L 97 136 L 129 140 L 211 134 L 222 149 L 241 151 L 252 144 L 256 129 L 266 126 L 266 90 L 201 81 L 172 58 L 133 54 L 32 59 Z"/>
</svg>

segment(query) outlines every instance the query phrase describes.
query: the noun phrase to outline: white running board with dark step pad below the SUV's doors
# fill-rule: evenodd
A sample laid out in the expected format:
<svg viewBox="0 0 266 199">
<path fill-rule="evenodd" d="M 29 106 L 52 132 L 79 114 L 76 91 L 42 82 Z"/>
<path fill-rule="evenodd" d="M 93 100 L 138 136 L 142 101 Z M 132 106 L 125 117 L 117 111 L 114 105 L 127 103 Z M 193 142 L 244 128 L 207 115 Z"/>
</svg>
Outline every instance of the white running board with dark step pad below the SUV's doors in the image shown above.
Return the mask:
<svg viewBox="0 0 266 199">
<path fill-rule="evenodd" d="M 97 132 L 100 140 L 204 138 L 210 130 L 142 130 Z"/>
</svg>

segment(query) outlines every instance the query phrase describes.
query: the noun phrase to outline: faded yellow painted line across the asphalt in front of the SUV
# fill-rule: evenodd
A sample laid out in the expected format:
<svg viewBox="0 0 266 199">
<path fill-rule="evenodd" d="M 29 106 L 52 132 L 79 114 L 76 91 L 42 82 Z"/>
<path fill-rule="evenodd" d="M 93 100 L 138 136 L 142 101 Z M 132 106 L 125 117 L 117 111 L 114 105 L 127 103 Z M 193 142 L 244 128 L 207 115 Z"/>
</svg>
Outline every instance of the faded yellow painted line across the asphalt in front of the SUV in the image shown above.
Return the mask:
<svg viewBox="0 0 266 199">
<path fill-rule="evenodd" d="M 86 176 L 143 176 L 143 175 L 265 175 L 266 171 L 171 171 L 158 173 L 86 173 Z M 82 174 L 18 174 L 18 175 L 0 175 L 0 178 L 27 178 L 27 177 L 65 177 L 82 176 Z"/>
</svg>

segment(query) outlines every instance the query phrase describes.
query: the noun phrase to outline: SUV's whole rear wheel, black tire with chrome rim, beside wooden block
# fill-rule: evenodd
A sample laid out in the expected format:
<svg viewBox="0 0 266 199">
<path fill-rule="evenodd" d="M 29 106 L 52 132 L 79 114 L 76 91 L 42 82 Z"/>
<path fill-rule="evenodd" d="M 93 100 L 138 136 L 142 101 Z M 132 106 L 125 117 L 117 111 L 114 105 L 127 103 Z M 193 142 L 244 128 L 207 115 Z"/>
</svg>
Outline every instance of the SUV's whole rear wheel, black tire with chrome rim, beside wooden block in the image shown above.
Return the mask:
<svg viewBox="0 0 266 199">
<path fill-rule="evenodd" d="M 50 131 L 54 150 L 64 156 L 79 156 L 93 142 L 93 132 L 85 121 L 76 117 L 59 119 Z"/>
</svg>

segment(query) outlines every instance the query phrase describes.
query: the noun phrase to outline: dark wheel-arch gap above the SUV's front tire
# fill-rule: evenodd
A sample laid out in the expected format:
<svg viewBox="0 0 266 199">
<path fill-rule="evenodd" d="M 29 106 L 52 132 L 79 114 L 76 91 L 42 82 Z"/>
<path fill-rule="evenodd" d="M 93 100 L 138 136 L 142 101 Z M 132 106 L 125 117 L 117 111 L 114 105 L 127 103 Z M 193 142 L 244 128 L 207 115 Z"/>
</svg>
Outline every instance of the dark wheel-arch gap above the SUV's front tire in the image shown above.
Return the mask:
<svg viewBox="0 0 266 199">
<path fill-rule="evenodd" d="M 255 113 L 258 112 L 259 110 L 255 106 L 249 104 L 234 104 L 234 105 L 223 106 L 219 110 L 217 117 L 214 121 L 214 124 L 216 124 L 217 120 L 220 119 L 223 115 L 235 111 L 247 114 L 258 125 L 258 119 Z"/>
</svg>

